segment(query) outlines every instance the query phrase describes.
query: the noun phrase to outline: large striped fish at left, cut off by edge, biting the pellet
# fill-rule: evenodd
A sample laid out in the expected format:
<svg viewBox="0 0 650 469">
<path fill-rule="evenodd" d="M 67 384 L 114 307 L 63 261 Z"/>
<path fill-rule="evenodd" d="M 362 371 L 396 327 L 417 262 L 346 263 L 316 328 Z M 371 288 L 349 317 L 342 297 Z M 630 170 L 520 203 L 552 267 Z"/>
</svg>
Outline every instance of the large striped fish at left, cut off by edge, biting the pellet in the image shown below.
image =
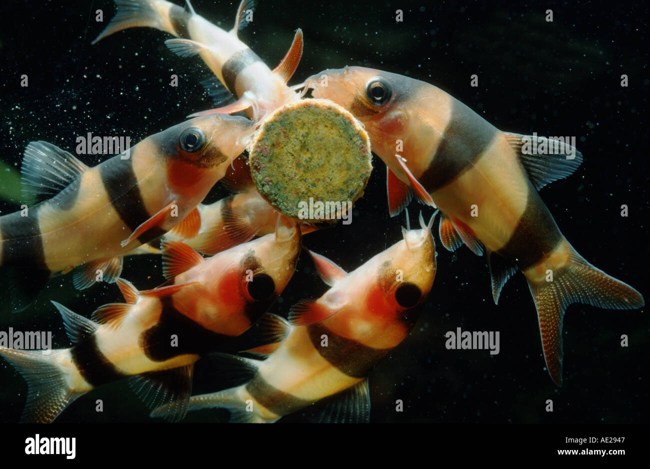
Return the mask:
<svg viewBox="0 0 650 469">
<path fill-rule="evenodd" d="M 114 281 L 122 268 L 119 256 L 194 210 L 223 177 L 233 149 L 243 149 L 239 141 L 249 128 L 250 121 L 235 116 L 195 118 L 94 168 L 51 144 L 32 142 L 23 184 L 34 201 L 45 200 L 0 217 L 0 265 L 67 272 L 117 256 L 105 269 L 104 280 Z"/>
</svg>

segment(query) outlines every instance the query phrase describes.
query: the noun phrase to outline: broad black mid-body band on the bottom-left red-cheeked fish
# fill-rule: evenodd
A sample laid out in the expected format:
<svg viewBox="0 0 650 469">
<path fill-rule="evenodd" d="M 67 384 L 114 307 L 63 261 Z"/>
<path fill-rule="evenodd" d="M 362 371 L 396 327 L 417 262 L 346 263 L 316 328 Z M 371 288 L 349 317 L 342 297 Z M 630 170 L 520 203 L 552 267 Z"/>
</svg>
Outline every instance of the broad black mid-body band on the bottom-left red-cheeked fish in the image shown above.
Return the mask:
<svg viewBox="0 0 650 469">
<path fill-rule="evenodd" d="M 162 298 L 161 303 L 160 320 L 140 335 L 140 347 L 149 360 L 162 362 L 179 355 L 224 351 L 224 346 L 233 340 L 230 336 L 205 329 L 179 312 L 171 296 Z M 172 346 L 172 335 L 177 336 L 176 346 Z"/>
</svg>

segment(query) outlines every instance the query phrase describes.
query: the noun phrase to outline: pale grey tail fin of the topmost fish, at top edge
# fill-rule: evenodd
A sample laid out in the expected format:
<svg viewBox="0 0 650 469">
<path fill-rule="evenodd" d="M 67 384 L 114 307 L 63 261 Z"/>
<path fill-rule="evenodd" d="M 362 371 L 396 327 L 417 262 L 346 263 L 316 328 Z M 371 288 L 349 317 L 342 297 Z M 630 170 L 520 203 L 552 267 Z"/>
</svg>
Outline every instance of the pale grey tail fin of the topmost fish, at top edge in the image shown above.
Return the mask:
<svg viewBox="0 0 650 469">
<path fill-rule="evenodd" d="M 113 0 L 118 11 L 109 25 L 91 43 L 96 44 L 99 40 L 110 36 L 114 32 L 134 27 L 151 27 L 169 32 L 178 36 L 172 21 L 169 19 L 170 9 L 176 6 L 164 0 Z"/>
</svg>

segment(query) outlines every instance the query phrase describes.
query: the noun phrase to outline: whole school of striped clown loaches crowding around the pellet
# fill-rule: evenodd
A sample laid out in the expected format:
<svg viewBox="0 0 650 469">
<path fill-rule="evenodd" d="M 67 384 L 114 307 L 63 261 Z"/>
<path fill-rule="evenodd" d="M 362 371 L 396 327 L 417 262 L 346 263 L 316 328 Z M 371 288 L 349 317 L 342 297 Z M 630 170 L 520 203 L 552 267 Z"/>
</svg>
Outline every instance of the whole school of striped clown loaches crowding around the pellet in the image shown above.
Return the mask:
<svg viewBox="0 0 650 469">
<path fill-rule="evenodd" d="M 0 216 L 0 267 L 12 279 L 5 308 L 18 313 L 3 317 L 19 318 L 55 275 L 69 274 L 82 294 L 98 281 L 111 284 L 123 301 L 81 314 L 52 301 L 69 348 L 0 348 L 27 382 L 21 422 L 53 422 L 86 392 L 125 378 L 152 417 L 170 422 L 208 408 L 227 409 L 231 422 L 276 422 L 317 404 L 318 422 L 368 422 L 369 374 L 421 313 L 434 286 L 436 237 L 448 251 L 464 244 L 486 253 L 495 304 L 521 270 L 538 314 L 540 365 L 558 387 L 569 305 L 643 307 L 637 290 L 578 254 L 538 195 L 582 164 L 575 138 L 500 131 L 433 84 L 388 71 L 346 66 L 289 86 L 303 32 L 269 68 L 238 37 L 253 0 L 242 0 L 229 31 L 189 0 L 114 3 L 92 44 L 132 27 L 159 29 L 174 36 L 161 40 L 181 66 L 198 56 L 220 84 L 206 84 L 213 109 L 122 143 L 122 153 L 97 166 L 49 142 L 25 149 L 25 205 Z M 274 110 L 308 99 L 333 101 L 361 123 L 386 167 L 385 210 L 406 212 L 402 239 L 352 272 L 304 246 L 328 224 L 279 213 L 250 175 L 248 139 Z M 80 142 L 90 153 L 95 140 Z M 217 183 L 232 194 L 205 203 Z M 405 210 L 413 196 L 422 204 L 415 228 Z M 122 276 L 133 255 L 160 256 L 166 281 L 138 290 L 140 279 Z M 291 305 L 286 317 L 272 314 L 301 256 L 329 289 Z M 459 346 L 460 335 L 459 328 Z M 202 357 L 237 383 L 192 396 Z"/>
</svg>

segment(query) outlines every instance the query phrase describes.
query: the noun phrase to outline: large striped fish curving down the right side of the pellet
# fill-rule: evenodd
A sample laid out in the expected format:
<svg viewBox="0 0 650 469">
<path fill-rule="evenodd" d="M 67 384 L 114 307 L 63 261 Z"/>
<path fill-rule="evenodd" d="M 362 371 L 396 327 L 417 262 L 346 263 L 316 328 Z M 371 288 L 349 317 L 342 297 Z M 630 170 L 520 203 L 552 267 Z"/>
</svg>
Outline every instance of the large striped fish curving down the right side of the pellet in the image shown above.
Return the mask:
<svg viewBox="0 0 650 469">
<path fill-rule="evenodd" d="M 443 213 L 439 232 L 447 249 L 463 243 L 478 255 L 486 249 L 495 303 L 512 273 L 524 273 L 556 384 L 562 383 L 562 321 L 569 304 L 643 306 L 634 288 L 580 257 L 538 195 L 579 166 L 582 154 L 575 148 L 528 155 L 525 136 L 503 133 L 439 88 L 395 73 L 351 67 L 305 83 L 314 97 L 331 99 L 363 121 L 373 151 L 389 168 L 391 209 L 408 203 L 410 186 L 430 195 Z"/>
</svg>

